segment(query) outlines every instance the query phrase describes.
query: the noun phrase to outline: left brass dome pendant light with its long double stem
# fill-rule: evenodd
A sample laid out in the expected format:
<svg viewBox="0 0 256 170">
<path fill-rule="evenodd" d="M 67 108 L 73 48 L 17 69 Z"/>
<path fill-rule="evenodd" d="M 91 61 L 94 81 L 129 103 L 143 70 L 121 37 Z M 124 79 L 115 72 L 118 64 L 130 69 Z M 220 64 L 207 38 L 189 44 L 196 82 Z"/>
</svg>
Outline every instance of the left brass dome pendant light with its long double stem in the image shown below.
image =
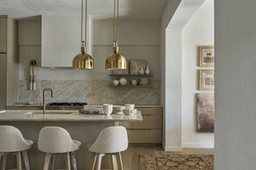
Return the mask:
<svg viewBox="0 0 256 170">
<path fill-rule="evenodd" d="M 86 0 L 86 19 L 85 24 L 83 24 L 83 0 L 82 0 L 82 11 L 81 11 L 81 53 L 78 53 L 73 59 L 73 69 L 94 69 L 94 58 L 90 54 L 86 53 L 86 34 L 87 34 L 87 0 Z M 85 35 L 83 36 L 83 25 L 85 25 Z M 85 37 L 83 39 L 83 37 Z"/>
</svg>

